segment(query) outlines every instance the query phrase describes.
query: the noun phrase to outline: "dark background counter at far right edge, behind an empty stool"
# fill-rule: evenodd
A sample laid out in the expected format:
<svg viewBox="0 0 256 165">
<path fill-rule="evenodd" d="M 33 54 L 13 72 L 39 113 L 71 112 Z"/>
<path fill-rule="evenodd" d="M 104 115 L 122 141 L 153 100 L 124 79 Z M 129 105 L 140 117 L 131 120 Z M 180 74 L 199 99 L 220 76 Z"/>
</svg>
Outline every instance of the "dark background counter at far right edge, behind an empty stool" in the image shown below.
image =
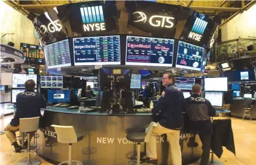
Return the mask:
<svg viewBox="0 0 256 165">
<path fill-rule="evenodd" d="M 255 98 L 238 98 L 233 99 L 233 104 L 230 105 L 231 116 L 242 118 L 244 115 L 244 105 L 253 102 L 253 107 L 251 109 L 252 119 L 256 120 L 256 99 Z"/>
</svg>

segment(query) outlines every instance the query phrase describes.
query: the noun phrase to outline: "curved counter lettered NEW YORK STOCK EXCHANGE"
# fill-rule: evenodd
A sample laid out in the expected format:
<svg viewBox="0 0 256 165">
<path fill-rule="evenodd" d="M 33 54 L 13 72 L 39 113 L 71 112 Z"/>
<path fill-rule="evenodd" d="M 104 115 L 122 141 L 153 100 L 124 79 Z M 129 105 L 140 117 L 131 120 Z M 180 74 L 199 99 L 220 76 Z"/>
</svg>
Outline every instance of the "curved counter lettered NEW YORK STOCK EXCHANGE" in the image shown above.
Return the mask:
<svg viewBox="0 0 256 165">
<path fill-rule="evenodd" d="M 56 132 L 50 125 L 70 125 L 74 126 L 76 132 L 83 134 L 83 140 L 73 145 L 73 159 L 82 161 L 84 165 L 123 165 L 130 159 L 135 159 L 136 145 L 126 139 L 127 132 L 144 132 L 157 117 L 152 113 L 130 113 L 116 117 L 107 113 L 78 112 L 77 109 L 60 107 L 47 107 L 42 110 L 42 121 L 45 121 L 45 125 L 40 128 L 42 132 L 37 140 L 37 145 L 41 147 L 39 155 L 52 161 L 67 160 L 68 144 L 57 142 Z M 200 138 L 184 130 L 180 132 L 182 163 L 193 163 L 201 158 Z M 158 164 L 172 164 L 166 135 L 158 137 L 157 142 Z M 141 144 L 141 157 L 144 155 L 145 145 Z"/>
</svg>

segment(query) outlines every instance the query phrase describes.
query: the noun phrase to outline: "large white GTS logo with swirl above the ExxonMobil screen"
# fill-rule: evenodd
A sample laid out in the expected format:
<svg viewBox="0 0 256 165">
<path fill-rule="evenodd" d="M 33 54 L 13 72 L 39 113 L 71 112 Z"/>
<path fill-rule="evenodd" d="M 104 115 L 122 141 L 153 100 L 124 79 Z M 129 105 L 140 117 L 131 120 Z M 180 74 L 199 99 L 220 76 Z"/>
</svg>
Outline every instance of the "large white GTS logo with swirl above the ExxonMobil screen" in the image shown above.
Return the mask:
<svg viewBox="0 0 256 165">
<path fill-rule="evenodd" d="M 147 21 L 147 15 L 143 12 L 134 12 L 133 14 L 138 14 L 140 20 L 136 20 L 134 22 L 143 22 L 145 23 Z M 155 27 L 162 27 L 162 28 L 172 28 L 173 27 L 173 22 L 171 20 L 174 20 L 173 17 L 166 17 L 166 16 L 161 16 L 161 15 L 153 15 L 149 18 L 149 24 L 151 26 Z"/>
</svg>

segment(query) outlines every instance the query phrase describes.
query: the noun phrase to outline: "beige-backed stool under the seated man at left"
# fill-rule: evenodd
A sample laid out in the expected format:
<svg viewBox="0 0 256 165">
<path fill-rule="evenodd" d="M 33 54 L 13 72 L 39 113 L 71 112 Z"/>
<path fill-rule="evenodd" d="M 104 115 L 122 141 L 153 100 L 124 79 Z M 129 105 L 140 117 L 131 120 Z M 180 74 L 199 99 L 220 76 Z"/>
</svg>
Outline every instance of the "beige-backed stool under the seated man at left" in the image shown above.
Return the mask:
<svg viewBox="0 0 256 165">
<path fill-rule="evenodd" d="M 31 117 L 31 118 L 20 118 L 20 132 L 27 132 L 27 141 L 28 141 L 28 160 L 22 159 L 20 162 L 18 162 L 18 165 L 24 165 L 24 164 L 32 164 L 32 165 L 38 165 L 41 164 L 41 160 L 36 158 L 30 157 L 30 134 L 29 132 L 36 131 L 39 129 L 39 118 L 40 117 Z"/>
</svg>

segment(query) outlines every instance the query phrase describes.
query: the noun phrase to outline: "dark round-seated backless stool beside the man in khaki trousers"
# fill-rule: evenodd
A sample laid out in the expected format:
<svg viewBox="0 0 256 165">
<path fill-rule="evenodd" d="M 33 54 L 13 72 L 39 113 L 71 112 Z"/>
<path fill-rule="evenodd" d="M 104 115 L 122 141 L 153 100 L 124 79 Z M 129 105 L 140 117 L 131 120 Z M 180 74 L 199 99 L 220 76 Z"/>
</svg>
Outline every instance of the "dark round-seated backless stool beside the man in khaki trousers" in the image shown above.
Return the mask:
<svg viewBox="0 0 256 165">
<path fill-rule="evenodd" d="M 137 144 L 137 164 L 141 164 L 141 143 L 144 143 L 145 136 L 147 133 L 145 132 L 131 132 L 128 133 L 126 139 L 131 142 L 136 142 Z"/>
</svg>

